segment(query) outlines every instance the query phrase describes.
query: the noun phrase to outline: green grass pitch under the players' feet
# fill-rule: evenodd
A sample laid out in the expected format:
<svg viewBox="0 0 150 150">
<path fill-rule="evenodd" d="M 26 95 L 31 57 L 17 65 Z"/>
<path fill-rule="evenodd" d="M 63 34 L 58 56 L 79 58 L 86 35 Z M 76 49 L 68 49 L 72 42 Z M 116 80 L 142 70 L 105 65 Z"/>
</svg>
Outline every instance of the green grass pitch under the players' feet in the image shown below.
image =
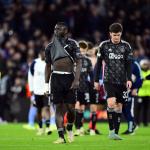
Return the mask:
<svg viewBox="0 0 150 150">
<path fill-rule="evenodd" d="M 22 128 L 22 124 L 0 125 L 0 150 L 150 150 L 150 127 L 140 127 L 133 136 L 122 136 L 124 140 L 107 138 L 108 125 L 99 123 L 103 135 L 76 137 L 74 143 L 56 145 L 57 133 L 36 136 L 35 131 Z M 120 132 L 126 129 L 121 126 Z"/>
</svg>

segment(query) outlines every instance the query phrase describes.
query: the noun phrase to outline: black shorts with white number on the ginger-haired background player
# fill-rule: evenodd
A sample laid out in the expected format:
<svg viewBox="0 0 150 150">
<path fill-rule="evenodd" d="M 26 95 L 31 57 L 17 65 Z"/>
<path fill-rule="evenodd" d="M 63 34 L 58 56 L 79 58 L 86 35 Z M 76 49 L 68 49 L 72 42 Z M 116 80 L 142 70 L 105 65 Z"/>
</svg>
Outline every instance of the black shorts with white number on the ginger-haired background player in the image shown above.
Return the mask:
<svg viewBox="0 0 150 150">
<path fill-rule="evenodd" d="M 86 105 L 90 103 L 90 94 L 88 92 L 77 92 L 77 101 L 80 102 L 81 105 Z"/>
</svg>

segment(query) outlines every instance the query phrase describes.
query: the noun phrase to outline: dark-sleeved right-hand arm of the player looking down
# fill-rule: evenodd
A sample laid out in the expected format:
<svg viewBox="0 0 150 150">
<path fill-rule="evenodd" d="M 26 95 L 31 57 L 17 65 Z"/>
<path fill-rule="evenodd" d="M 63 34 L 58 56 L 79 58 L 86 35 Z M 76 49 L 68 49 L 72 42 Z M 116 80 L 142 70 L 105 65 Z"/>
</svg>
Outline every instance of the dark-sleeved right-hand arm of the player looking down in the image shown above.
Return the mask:
<svg viewBox="0 0 150 150">
<path fill-rule="evenodd" d="M 132 48 L 131 46 L 128 44 L 127 45 L 127 51 L 126 51 L 126 62 L 125 62 L 125 67 L 126 67 L 126 72 L 127 72 L 127 88 L 131 88 L 132 87 L 132 60 L 133 60 L 133 52 L 132 52 Z"/>
</svg>

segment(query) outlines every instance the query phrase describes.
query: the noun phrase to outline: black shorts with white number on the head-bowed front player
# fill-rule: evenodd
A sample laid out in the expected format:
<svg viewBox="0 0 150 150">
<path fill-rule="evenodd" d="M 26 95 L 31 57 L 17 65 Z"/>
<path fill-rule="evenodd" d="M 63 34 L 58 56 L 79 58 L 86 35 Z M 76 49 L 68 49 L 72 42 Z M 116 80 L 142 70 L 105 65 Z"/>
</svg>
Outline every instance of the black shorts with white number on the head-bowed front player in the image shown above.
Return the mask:
<svg viewBox="0 0 150 150">
<path fill-rule="evenodd" d="M 117 103 L 125 103 L 128 99 L 128 91 L 125 85 L 104 83 L 107 99 L 115 97 Z"/>
</svg>

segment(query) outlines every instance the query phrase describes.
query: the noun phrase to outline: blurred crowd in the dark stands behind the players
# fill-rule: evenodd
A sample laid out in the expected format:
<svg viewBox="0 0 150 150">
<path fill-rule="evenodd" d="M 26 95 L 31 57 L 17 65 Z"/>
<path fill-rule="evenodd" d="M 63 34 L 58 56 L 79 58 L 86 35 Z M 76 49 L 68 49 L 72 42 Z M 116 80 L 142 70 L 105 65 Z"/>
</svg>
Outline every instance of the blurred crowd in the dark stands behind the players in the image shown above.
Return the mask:
<svg viewBox="0 0 150 150">
<path fill-rule="evenodd" d="M 14 106 L 26 96 L 28 66 L 49 43 L 58 21 L 68 24 L 71 37 L 96 46 L 108 38 L 109 25 L 120 22 L 136 57 L 150 58 L 150 0 L 0 0 L 0 95 L 12 99 L 12 121 L 19 112 Z"/>
</svg>

